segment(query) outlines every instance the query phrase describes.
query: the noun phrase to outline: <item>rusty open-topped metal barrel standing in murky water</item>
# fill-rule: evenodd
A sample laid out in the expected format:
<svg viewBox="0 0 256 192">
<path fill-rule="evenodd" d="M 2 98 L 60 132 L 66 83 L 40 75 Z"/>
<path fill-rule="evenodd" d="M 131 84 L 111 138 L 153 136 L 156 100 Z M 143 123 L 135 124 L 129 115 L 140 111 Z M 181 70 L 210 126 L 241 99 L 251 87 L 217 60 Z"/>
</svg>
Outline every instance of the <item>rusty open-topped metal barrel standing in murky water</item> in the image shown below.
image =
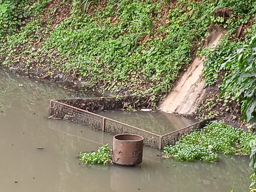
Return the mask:
<svg viewBox="0 0 256 192">
<path fill-rule="evenodd" d="M 136 165 L 142 162 L 143 140 L 140 135 L 119 134 L 113 138 L 112 161 L 121 165 Z"/>
</svg>

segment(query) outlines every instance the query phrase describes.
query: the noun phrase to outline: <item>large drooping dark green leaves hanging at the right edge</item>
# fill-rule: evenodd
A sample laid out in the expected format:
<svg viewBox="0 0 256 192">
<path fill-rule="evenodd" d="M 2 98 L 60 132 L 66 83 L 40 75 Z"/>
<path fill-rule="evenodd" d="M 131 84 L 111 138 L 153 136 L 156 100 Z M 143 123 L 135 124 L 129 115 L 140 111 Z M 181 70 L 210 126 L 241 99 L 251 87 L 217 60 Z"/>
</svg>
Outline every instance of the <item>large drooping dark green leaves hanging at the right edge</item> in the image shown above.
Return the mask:
<svg viewBox="0 0 256 192">
<path fill-rule="evenodd" d="M 234 66 L 234 75 L 228 79 L 220 96 L 233 88 L 233 94 L 242 98 L 242 119 L 256 122 L 256 36 L 252 37 L 249 44 L 230 54 L 220 69 Z"/>
</svg>

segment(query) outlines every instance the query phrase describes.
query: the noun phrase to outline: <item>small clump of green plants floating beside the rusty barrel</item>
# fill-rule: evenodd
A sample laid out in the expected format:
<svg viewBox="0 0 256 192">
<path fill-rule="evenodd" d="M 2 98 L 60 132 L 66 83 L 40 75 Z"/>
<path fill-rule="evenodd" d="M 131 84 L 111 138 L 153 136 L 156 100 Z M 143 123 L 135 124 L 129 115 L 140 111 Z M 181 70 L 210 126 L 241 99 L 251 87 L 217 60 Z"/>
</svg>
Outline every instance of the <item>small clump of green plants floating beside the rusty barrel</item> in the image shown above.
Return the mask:
<svg viewBox="0 0 256 192">
<path fill-rule="evenodd" d="M 80 161 L 85 164 L 111 164 L 112 149 L 108 147 L 108 143 L 98 148 L 97 152 L 82 153 L 80 152 Z"/>
</svg>

